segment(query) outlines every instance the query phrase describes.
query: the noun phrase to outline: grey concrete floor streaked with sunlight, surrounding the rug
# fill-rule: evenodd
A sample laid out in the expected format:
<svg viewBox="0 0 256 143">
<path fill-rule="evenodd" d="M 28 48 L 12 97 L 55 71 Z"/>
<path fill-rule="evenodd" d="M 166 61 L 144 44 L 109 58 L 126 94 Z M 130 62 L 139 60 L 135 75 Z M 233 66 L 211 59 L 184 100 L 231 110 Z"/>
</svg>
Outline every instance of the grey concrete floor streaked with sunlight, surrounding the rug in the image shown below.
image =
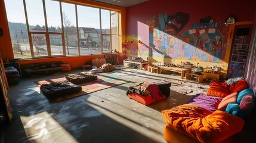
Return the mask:
<svg viewBox="0 0 256 143">
<path fill-rule="evenodd" d="M 49 101 L 33 82 L 67 72 L 21 79 L 8 92 L 14 119 L 4 130 L 4 142 L 165 142 L 161 111 L 185 104 L 191 97 L 171 86 L 169 98 L 145 106 L 129 99 L 126 91 L 136 82 L 178 81 L 180 76 L 134 69 L 115 72 L 131 82 L 60 102 Z"/>
</svg>

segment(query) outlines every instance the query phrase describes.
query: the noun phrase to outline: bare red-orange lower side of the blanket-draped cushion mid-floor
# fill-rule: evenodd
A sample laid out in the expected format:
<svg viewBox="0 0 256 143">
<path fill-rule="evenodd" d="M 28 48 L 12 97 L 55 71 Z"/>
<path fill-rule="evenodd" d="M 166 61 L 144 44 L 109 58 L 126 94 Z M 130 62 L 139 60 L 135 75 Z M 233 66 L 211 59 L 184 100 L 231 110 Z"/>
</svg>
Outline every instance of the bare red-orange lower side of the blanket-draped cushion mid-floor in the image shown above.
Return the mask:
<svg viewBox="0 0 256 143">
<path fill-rule="evenodd" d="M 149 105 L 156 101 L 164 100 L 166 98 L 165 95 L 163 95 L 163 96 L 159 97 L 158 100 L 155 100 L 154 98 L 150 97 L 149 95 L 143 96 L 143 95 L 140 95 L 137 93 L 128 94 L 127 97 L 132 98 L 132 100 L 138 101 L 144 105 Z"/>
</svg>

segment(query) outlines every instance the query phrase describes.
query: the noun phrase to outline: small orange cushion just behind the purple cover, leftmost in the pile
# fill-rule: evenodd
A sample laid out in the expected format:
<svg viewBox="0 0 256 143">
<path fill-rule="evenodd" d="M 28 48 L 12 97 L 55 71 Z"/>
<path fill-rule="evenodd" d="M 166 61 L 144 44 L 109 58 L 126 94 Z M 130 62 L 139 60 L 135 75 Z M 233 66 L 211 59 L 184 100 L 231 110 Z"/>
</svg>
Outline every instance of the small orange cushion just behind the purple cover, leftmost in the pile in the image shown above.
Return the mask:
<svg viewBox="0 0 256 143">
<path fill-rule="evenodd" d="M 221 98 L 224 98 L 227 95 L 229 95 L 229 85 L 226 85 L 225 83 L 212 82 L 211 85 L 209 85 L 209 87 L 210 88 L 206 92 L 207 95 Z"/>
</svg>

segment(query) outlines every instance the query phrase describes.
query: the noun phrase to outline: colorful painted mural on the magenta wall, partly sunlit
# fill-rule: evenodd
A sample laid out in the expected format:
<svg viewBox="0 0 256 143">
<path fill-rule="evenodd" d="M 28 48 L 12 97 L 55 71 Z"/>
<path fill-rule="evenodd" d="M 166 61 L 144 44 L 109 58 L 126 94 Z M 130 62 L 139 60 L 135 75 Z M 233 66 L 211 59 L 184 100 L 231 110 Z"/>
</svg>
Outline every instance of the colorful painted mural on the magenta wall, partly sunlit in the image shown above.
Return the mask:
<svg viewBox="0 0 256 143">
<path fill-rule="evenodd" d="M 192 23 L 191 29 L 180 32 L 188 18 L 189 16 L 184 13 L 175 13 L 171 16 L 164 13 L 159 14 L 158 17 L 149 18 L 146 21 L 149 29 L 149 43 L 143 41 L 146 35 L 140 35 L 138 30 L 139 45 L 128 44 L 127 57 L 138 54 L 139 56 L 223 63 L 226 51 L 226 44 L 223 43 L 226 41 L 221 33 L 223 30 L 221 23 Z M 173 23 L 177 20 L 180 21 Z M 172 21 L 174 25 L 171 26 L 168 21 Z M 176 27 L 178 24 L 181 24 L 181 27 Z M 136 51 L 138 53 L 135 53 Z"/>
</svg>

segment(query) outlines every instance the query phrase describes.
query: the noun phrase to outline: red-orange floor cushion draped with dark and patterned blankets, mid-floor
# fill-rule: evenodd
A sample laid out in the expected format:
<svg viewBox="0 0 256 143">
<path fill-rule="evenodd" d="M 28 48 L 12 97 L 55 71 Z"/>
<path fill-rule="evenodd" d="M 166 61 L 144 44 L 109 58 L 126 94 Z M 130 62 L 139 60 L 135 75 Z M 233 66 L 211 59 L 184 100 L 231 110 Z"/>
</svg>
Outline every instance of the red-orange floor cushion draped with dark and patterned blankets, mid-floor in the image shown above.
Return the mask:
<svg viewBox="0 0 256 143">
<path fill-rule="evenodd" d="M 144 105 L 152 104 L 156 101 L 164 100 L 170 94 L 170 82 L 138 82 L 129 86 L 127 97 Z"/>
</svg>

